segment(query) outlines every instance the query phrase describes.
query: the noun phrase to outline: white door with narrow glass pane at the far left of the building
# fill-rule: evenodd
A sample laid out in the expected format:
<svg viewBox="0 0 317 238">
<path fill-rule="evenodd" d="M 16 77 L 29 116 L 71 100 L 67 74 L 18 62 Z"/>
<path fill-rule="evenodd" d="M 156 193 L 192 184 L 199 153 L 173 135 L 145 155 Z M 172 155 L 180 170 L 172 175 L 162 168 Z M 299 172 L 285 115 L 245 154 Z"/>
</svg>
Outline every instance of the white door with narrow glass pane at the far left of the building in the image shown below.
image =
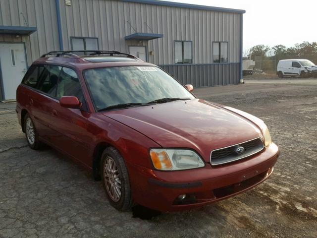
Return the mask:
<svg viewBox="0 0 317 238">
<path fill-rule="evenodd" d="M 16 88 L 26 72 L 24 45 L 0 43 L 0 63 L 4 100 L 15 99 Z"/>
</svg>

